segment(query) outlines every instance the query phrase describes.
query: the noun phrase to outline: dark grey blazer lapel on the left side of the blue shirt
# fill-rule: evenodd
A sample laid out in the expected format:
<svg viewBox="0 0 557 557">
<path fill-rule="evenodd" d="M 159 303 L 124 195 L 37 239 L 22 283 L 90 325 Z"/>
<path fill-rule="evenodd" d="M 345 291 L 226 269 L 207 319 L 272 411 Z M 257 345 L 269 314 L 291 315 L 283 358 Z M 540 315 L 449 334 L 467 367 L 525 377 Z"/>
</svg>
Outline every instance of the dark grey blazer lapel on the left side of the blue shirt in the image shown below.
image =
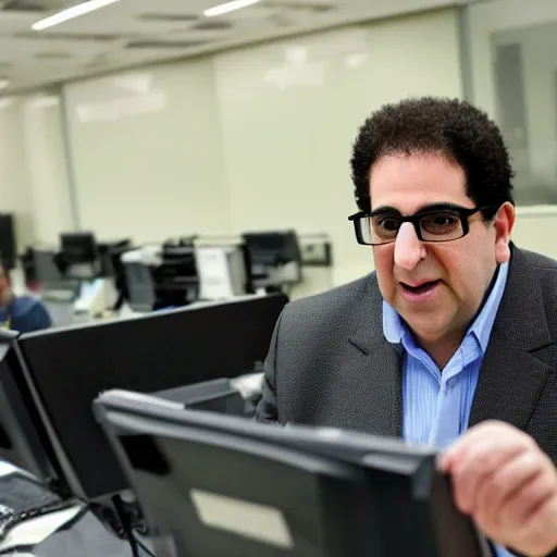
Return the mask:
<svg viewBox="0 0 557 557">
<path fill-rule="evenodd" d="M 354 377 L 369 376 L 363 397 L 360 428 L 373 435 L 401 436 L 403 358 L 399 347 L 383 335 L 383 298 L 376 276 L 370 275 L 368 293 L 359 306 L 356 327 L 349 335 L 352 350 L 350 371 Z M 361 382 L 357 384 L 361 385 Z"/>
</svg>

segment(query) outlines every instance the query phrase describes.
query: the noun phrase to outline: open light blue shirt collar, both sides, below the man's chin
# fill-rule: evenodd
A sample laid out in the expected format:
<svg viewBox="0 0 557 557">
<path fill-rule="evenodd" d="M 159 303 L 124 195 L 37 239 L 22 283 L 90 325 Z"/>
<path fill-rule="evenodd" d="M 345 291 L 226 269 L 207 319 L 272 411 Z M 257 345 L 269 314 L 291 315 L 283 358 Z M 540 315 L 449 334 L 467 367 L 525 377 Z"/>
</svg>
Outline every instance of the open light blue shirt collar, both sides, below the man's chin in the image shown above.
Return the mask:
<svg viewBox="0 0 557 557">
<path fill-rule="evenodd" d="M 493 323 L 503 298 L 503 293 L 505 292 L 508 267 L 508 263 L 499 265 L 495 284 L 467 333 L 467 336 L 470 334 L 474 335 L 483 354 L 487 349 Z M 383 334 L 388 343 L 395 345 L 411 341 L 408 327 L 400 319 L 400 315 L 385 300 L 383 300 Z"/>
</svg>

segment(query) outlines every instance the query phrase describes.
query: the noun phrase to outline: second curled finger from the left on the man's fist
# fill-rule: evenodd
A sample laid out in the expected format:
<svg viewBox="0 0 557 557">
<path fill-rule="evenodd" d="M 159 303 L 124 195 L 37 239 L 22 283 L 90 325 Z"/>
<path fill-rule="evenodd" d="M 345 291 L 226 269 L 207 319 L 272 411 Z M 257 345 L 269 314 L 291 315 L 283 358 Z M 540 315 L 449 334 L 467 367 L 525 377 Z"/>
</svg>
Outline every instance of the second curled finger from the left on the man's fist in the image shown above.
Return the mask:
<svg viewBox="0 0 557 557">
<path fill-rule="evenodd" d="M 472 512 L 482 523 L 495 527 L 502 508 L 542 472 L 543 461 L 537 453 L 527 450 L 509 459 L 479 482 Z"/>
</svg>

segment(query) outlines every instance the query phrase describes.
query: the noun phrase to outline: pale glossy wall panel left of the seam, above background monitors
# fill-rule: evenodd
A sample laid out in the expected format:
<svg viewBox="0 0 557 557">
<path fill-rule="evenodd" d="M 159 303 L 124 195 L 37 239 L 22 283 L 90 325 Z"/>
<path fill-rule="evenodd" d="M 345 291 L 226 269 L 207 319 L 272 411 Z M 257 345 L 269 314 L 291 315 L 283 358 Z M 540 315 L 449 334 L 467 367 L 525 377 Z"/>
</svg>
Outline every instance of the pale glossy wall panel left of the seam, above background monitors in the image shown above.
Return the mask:
<svg viewBox="0 0 557 557">
<path fill-rule="evenodd" d="M 227 232 L 211 59 L 64 87 L 78 224 L 100 239 Z"/>
</svg>

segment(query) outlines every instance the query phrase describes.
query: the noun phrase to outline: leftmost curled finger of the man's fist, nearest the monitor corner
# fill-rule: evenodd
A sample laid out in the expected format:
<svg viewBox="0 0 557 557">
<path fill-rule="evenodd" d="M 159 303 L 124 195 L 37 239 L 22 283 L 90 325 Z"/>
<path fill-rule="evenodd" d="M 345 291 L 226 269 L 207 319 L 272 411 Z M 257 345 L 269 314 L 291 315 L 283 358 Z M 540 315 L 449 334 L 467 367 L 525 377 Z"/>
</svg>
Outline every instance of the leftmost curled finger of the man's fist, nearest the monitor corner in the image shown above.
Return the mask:
<svg viewBox="0 0 557 557">
<path fill-rule="evenodd" d="M 498 440 L 493 438 L 483 438 L 467 447 L 451 469 L 455 502 L 460 510 L 472 512 L 476 506 L 479 486 L 524 450 L 520 445 L 500 445 Z"/>
</svg>

